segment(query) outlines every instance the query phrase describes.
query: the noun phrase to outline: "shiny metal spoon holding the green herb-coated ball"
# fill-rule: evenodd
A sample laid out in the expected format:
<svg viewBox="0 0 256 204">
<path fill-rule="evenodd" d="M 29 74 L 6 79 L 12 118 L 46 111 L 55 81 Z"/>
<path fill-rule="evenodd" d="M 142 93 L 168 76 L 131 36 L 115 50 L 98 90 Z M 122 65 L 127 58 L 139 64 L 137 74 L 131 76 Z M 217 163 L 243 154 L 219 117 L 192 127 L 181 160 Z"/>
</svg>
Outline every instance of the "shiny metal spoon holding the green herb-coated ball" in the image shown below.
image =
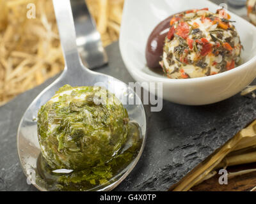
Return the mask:
<svg viewBox="0 0 256 204">
<path fill-rule="evenodd" d="M 134 168 L 138 159 L 140 159 L 146 137 L 145 110 L 139 96 L 131 87 L 124 84 L 124 82 L 108 75 L 95 73 L 84 68 L 77 52 L 76 32 L 70 1 L 53 0 L 53 4 L 60 33 L 61 45 L 63 48 L 63 55 L 65 57 L 65 69 L 57 80 L 44 89 L 44 91 L 34 99 L 20 120 L 17 133 L 17 147 L 20 163 L 29 182 L 39 190 L 47 191 L 44 184 L 36 182 L 36 162 L 41 152 L 37 138 L 37 112 L 40 106 L 44 105 L 54 95 L 54 93 L 65 84 L 70 84 L 72 86 L 100 85 L 102 87 L 106 87 L 106 89 L 113 92 L 115 96 L 120 99 L 124 107 L 127 109 L 129 118 L 140 126 L 141 140 L 143 141 L 138 155 L 131 164 L 129 164 L 128 168 L 116 175 L 115 179 L 110 180 L 110 184 L 108 184 L 108 186 L 97 186 L 96 188 L 93 188 L 93 190 L 108 191 L 120 184 L 120 182 L 122 182 L 122 180 L 124 180 L 131 172 L 132 168 Z M 133 101 L 137 101 L 137 104 L 132 105 L 134 104 L 131 103 Z M 79 189 L 77 189 L 77 191 L 78 190 Z"/>
</svg>

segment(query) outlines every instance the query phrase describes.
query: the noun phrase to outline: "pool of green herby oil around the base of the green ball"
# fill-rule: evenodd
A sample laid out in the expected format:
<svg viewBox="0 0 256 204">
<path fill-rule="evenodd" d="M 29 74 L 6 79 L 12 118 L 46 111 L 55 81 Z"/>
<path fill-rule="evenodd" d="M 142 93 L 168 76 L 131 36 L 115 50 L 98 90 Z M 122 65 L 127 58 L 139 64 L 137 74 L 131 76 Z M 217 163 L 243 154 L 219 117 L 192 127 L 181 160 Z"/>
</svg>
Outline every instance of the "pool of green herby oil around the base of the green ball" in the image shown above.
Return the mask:
<svg viewBox="0 0 256 204">
<path fill-rule="evenodd" d="M 118 180 L 138 155 L 142 144 L 140 127 L 129 122 L 127 140 L 108 163 L 71 173 L 53 173 L 42 154 L 36 166 L 36 183 L 47 191 L 97 191 Z"/>
</svg>

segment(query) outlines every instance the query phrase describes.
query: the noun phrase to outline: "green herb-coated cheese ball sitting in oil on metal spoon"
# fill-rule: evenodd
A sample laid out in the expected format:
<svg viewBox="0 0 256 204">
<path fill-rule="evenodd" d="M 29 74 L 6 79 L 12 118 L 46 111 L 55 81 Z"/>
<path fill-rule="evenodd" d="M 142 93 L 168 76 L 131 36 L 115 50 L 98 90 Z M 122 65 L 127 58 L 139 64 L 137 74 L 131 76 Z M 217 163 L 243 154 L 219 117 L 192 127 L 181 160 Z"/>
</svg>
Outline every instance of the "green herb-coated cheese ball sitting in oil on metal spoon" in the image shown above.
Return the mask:
<svg viewBox="0 0 256 204">
<path fill-rule="evenodd" d="M 83 170 L 110 161 L 124 145 L 128 115 L 102 87 L 64 85 L 38 112 L 38 140 L 52 169 Z"/>
</svg>

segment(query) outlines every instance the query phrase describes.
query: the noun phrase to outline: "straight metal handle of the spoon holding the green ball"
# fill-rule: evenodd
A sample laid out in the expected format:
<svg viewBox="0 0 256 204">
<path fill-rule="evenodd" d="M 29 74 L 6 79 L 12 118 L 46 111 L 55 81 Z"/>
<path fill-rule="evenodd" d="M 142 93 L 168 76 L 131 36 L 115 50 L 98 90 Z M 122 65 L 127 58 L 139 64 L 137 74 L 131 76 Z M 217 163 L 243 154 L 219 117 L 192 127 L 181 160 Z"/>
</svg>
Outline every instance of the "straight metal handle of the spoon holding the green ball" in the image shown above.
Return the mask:
<svg viewBox="0 0 256 204">
<path fill-rule="evenodd" d="M 70 0 L 52 0 L 60 34 L 61 47 L 68 71 L 81 69 L 76 45 L 76 30 Z"/>
</svg>

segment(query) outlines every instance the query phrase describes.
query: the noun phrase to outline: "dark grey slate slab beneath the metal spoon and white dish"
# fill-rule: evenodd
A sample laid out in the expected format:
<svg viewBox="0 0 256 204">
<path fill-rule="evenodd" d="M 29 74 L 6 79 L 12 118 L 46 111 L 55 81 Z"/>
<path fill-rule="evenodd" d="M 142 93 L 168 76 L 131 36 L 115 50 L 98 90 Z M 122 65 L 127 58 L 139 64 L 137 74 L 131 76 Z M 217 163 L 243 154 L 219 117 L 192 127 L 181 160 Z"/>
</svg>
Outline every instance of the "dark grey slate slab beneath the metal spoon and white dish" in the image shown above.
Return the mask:
<svg viewBox="0 0 256 204">
<path fill-rule="evenodd" d="M 109 65 L 95 71 L 126 83 L 133 82 L 120 57 L 118 43 L 106 50 Z M 1 191 L 36 191 L 27 184 L 20 167 L 17 128 L 28 105 L 53 80 L 51 78 L 0 107 Z M 237 94 L 214 105 L 183 106 L 164 101 L 161 112 L 150 112 L 150 106 L 145 106 L 145 110 L 148 122 L 145 150 L 137 166 L 116 191 L 166 191 L 255 119 L 256 101 Z"/>
</svg>

